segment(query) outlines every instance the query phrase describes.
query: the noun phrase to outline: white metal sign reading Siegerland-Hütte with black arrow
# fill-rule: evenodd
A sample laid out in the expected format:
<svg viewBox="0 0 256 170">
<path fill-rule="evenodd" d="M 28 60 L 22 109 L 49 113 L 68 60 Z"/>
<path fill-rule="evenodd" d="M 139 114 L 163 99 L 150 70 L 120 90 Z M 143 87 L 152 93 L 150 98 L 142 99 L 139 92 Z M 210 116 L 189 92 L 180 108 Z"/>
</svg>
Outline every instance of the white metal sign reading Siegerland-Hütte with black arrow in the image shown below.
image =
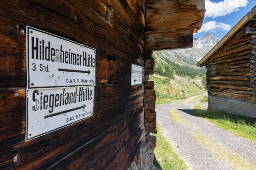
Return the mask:
<svg viewBox="0 0 256 170">
<path fill-rule="evenodd" d="M 27 90 L 26 141 L 91 116 L 94 88 Z"/>
</svg>

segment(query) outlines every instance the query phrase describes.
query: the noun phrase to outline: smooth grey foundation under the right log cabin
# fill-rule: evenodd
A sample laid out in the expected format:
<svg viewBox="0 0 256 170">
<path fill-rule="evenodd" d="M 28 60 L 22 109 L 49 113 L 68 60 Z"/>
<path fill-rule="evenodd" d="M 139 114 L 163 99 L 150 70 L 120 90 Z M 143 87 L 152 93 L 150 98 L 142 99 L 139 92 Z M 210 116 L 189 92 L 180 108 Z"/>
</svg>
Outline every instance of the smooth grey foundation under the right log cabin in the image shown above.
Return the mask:
<svg viewBox="0 0 256 170">
<path fill-rule="evenodd" d="M 223 97 L 208 97 L 209 111 L 223 110 L 236 115 L 256 118 L 256 103 L 243 102 Z"/>
</svg>

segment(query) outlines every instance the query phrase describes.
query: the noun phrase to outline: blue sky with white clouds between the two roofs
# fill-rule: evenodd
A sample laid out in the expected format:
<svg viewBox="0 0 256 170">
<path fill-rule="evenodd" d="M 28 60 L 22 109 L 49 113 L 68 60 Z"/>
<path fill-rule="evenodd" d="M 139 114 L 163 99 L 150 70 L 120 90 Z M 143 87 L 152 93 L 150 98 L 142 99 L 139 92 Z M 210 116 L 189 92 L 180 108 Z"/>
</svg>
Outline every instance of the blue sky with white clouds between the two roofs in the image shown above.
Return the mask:
<svg viewBox="0 0 256 170">
<path fill-rule="evenodd" d="M 210 32 L 221 39 L 255 5 L 256 0 L 205 0 L 205 19 L 194 38 Z"/>
</svg>

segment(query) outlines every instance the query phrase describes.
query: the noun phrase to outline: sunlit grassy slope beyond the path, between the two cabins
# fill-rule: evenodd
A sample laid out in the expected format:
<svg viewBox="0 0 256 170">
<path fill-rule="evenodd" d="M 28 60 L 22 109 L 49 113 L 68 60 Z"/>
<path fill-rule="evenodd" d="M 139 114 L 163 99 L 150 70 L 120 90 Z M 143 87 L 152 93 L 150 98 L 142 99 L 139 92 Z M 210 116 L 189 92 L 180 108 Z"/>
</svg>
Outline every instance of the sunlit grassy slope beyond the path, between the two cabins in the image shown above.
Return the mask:
<svg viewBox="0 0 256 170">
<path fill-rule="evenodd" d="M 176 75 L 175 79 L 171 79 L 160 75 L 150 75 L 149 81 L 154 81 L 155 83 L 156 105 L 200 95 L 204 92 L 201 89 L 200 78 L 190 79 Z M 190 93 L 191 89 L 192 93 Z"/>
</svg>

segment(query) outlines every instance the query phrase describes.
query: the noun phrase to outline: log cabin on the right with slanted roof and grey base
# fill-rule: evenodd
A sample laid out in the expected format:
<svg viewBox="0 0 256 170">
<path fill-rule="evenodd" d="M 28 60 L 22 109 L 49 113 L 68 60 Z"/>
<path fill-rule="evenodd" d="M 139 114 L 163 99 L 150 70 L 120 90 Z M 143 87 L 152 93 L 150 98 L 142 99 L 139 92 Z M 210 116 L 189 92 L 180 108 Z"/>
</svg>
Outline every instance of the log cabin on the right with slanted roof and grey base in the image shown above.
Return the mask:
<svg viewBox="0 0 256 170">
<path fill-rule="evenodd" d="M 200 62 L 206 66 L 208 110 L 256 117 L 256 6 Z"/>
</svg>

